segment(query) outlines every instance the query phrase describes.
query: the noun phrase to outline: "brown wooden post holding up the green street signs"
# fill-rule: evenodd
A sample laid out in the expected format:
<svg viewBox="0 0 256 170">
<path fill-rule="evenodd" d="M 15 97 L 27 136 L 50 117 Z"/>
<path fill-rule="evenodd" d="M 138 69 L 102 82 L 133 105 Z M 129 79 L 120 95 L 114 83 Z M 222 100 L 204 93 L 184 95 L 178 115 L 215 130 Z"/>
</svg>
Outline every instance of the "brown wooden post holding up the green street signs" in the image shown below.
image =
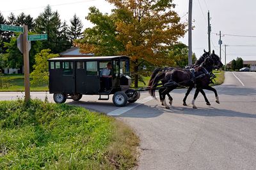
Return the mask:
<svg viewBox="0 0 256 170">
<path fill-rule="evenodd" d="M 28 50 L 28 25 L 23 25 L 23 59 L 24 59 L 24 86 L 25 86 L 25 101 L 30 99 L 29 89 L 29 50 Z"/>
</svg>

